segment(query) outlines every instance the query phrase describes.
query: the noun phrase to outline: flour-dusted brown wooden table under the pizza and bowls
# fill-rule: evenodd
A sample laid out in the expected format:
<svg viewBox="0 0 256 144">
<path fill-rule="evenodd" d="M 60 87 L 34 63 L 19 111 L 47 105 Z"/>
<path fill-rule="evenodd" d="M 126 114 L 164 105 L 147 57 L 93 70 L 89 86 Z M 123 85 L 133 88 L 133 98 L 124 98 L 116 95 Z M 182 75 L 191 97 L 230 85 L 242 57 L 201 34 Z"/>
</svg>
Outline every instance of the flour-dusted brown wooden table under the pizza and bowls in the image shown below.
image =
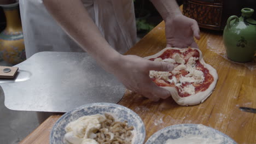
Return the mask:
<svg viewBox="0 0 256 144">
<path fill-rule="evenodd" d="M 164 26 L 161 22 L 126 54 L 145 57 L 164 49 Z M 203 30 L 201 39 L 196 42 L 205 62 L 212 65 L 219 76 L 214 92 L 204 103 L 179 106 L 172 98 L 152 102 L 126 91 L 118 104 L 129 107 L 142 118 L 146 140 L 169 125 L 195 123 L 217 129 L 237 143 L 256 143 L 256 115 L 238 109 L 240 106 L 256 107 L 255 63 L 238 64 L 226 59 L 222 33 Z M 60 117 L 50 116 L 21 143 L 49 143 L 50 130 Z"/>
</svg>

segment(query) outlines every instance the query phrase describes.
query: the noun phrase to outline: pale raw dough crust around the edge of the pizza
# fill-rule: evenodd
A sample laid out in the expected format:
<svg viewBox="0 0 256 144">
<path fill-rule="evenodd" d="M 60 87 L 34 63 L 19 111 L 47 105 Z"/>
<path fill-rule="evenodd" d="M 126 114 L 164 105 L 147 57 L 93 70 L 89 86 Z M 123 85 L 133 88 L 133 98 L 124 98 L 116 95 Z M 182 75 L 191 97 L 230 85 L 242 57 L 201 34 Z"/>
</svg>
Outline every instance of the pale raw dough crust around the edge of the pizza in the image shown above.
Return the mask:
<svg viewBox="0 0 256 144">
<path fill-rule="evenodd" d="M 165 49 L 161 50 L 160 52 L 156 53 L 155 55 L 144 57 L 144 58 L 151 59 L 151 58 L 159 57 L 162 55 L 162 53 L 164 53 L 166 50 L 169 50 L 169 49 L 186 50 L 186 49 L 179 49 L 179 48 L 175 48 L 175 47 L 174 48 L 166 47 Z M 200 53 L 199 61 L 203 65 L 203 67 L 205 67 L 206 69 L 209 70 L 209 73 L 213 76 L 213 82 L 206 89 L 206 91 L 197 92 L 196 94 L 189 95 L 188 97 L 180 97 L 178 95 L 178 91 L 175 87 L 162 87 L 162 88 L 165 88 L 168 91 L 170 91 L 172 98 L 179 105 L 197 105 L 197 104 L 203 103 L 203 101 L 205 101 L 213 92 L 213 90 L 216 86 L 217 80 L 218 80 L 218 74 L 217 74 L 216 69 L 214 69 L 211 65 L 205 63 L 205 61 L 203 61 L 202 52 L 197 48 L 190 48 L 190 49 L 193 49 L 193 50 L 195 49 L 195 50 L 199 51 L 199 53 Z"/>
</svg>

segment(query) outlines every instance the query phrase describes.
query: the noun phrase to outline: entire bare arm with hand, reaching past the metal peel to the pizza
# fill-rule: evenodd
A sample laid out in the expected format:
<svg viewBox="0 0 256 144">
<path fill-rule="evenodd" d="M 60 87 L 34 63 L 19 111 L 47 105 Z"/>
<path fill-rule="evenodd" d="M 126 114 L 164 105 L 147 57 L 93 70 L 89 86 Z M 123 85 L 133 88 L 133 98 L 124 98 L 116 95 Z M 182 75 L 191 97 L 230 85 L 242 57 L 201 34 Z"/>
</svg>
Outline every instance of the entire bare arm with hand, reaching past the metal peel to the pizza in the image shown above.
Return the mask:
<svg viewBox="0 0 256 144">
<path fill-rule="evenodd" d="M 43 1 L 62 28 L 104 69 L 117 76 L 125 87 L 152 100 L 170 97 L 170 92 L 153 83 L 149 71 L 171 71 L 172 64 L 153 62 L 134 55 L 120 55 L 102 37 L 80 0 Z"/>
</svg>

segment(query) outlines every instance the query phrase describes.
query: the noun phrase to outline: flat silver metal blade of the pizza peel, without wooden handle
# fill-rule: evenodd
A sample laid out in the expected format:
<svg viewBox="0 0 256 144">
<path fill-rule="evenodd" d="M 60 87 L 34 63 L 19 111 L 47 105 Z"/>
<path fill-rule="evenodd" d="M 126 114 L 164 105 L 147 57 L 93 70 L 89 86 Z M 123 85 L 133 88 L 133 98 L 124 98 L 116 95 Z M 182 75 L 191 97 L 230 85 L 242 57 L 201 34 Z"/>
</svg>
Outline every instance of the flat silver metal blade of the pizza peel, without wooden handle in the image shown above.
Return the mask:
<svg viewBox="0 0 256 144">
<path fill-rule="evenodd" d="M 85 52 L 39 52 L 0 79 L 8 109 L 67 112 L 90 103 L 118 103 L 125 87 Z M 5 69 L 6 70 L 6 69 Z"/>
</svg>

